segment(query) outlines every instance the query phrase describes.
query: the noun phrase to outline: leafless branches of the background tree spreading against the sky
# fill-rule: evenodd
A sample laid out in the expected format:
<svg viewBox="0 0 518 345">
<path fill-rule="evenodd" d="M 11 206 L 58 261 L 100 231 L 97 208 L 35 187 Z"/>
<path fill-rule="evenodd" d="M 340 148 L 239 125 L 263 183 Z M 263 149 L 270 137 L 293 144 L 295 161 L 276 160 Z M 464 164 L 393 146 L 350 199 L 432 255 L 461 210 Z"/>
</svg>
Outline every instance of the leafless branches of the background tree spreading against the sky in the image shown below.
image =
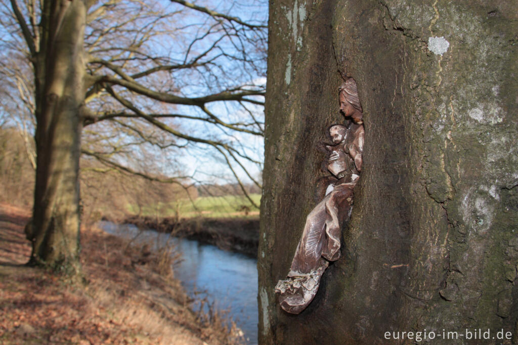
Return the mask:
<svg viewBox="0 0 518 345">
<path fill-rule="evenodd" d="M 9 103 L 3 107 L 20 112 L 17 124 L 30 138 L 35 124 L 28 114 L 40 111 L 38 88 L 46 77 L 31 70 L 45 59 L 27 57 L 39 57 L 38 49 L 46 47 L 49 30 L 60 18 L 49 17 L 50 2 L 9 1 L 8 16 L 0 20 L 11 34 L 0 39 L 5 48 L 0 52 L 0 78 L 7 81 L 2 91 Z M 171 171 L 184 168 L 176 157 L 199 150 L 198 157 L 207 157 L 210 168 L 212 163 L 227 164 L 239 177 L 237 190 L 260 185 L 251 171 L 261 166 L 261 148 L 254 146 L 264 133 L 264 119 L 256 109 L 264 106 L 265 23 L 254 21 L 248 12 L 233 16 L 233 7 L 226 4 L 225 10 L 214 11 L 193 0 L 87 2 L 93 6 L 84 33 L 87 90 L 80 115 L 85 127 L 82 147 L 90 153 L 83 161 L 88 171 L 139 172 L 153 181 L 170 181 Z M 26 60 L 17 69 L 13 66 L 20 57 Z M 103 124 L 97 125 L 100 121 Z M 224 159 L 216 162 L 209 154 Z M 102 165 L 89 166 L 93 159 Z M 160 169 L 169 176 L 149 172 Z"/>
</svg>

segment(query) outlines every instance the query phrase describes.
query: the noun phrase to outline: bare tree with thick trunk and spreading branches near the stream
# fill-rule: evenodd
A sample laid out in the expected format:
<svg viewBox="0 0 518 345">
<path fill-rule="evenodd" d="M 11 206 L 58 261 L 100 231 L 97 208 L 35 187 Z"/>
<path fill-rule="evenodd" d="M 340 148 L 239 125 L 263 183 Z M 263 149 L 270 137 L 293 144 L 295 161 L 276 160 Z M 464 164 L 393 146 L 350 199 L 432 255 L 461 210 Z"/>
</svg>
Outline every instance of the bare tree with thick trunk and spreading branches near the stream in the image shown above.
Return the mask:
<svg viewBox="0 0 518 345">
<path fill-rule="evenodd" d="M 146 158 L 139 147 L 161 148 L 176 161 L 180 150 L 201 145 L 223 157 L 240 185 L 243 172 L 259 184 L 246 162 L 261 164 L 261 156 L 243 138 L 264 130 L 264 20 L 239 19 L 246 11 L 237 4 L 216 11 L 179 0 L 23 5 L 4 2 L 3 24 L 12 42 L 23 38 L 34 75 L 32 264 L 79 269 L 81 153 L 174 182 L 178 166 L 164 178 L 135 164 Z"/>
</svg>

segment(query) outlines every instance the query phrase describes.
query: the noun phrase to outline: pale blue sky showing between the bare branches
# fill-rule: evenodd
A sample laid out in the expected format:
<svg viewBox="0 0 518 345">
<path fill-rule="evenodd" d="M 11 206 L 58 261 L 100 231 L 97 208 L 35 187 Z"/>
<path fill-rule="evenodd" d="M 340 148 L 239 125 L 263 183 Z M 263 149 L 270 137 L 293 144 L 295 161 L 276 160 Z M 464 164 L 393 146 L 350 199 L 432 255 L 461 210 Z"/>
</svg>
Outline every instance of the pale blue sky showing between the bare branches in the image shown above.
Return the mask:
<svg viewBox="0 0 518 345">
<path fill-rule="evenodd" d="M 136 2 L 137 4 L 139 2 Z M 233 17 L 239 17 L 245 22 L 253 24 L 263 23 L 266 24 L 268 16 L 268 3 L 263 0 L 246 0 L 246 1 L 197 1 L 195 2 L 199 6 L 206 6 L 212 10 L 229 14 Z M 142 3 L 139 3 L 142 4 Z M 145 3 L 149 6 L 151 2 Z M 180 5 L 170 3 L 166 0 L 160 0 L 154 3 L 156 6 L 163 6 L 164 9 L 176 10 L 181 8 Z M 19 3 L 22 6 L 22 3 Z M 117 5 L 119 6 L 119 5 Z M 128 16 L 132 14 L 132 6 L 126 5 L 126 13 Z M 138 5 L 137 5 L 138 6 Z M 121 18 L 113 19 L 121 20 Z M 191 54 L 185 55 L 186 45 L 192 41 L 192 35 L 201 35 L 207 30 L 213 22 L 210 17 L 205 13 L 198 11 L 189 10 L 188 12 L 181 13 L 180 16 L 173 15 L 170 18 L 170 22 L 164 20 L 163 27 L 157 26 L 159 30 L 163 31 L 162 35 L 157 35 L 146 42 L 147 49 L 156 56 L 162 56 L 164 59 L 169 59 L 170 63 L 182 62 L 182 60 L 189 61 L 191 56 L 195 56 L 198 52 L 205 51 L 211 44 L 212 37 L 218 37 L 218 33 L 208 35 L 208 40 L 198 40 L 191 46 Z M 141 27 L 142 31 L 145 31 L 146 25 L 145 19 L 139 19 L 139 21 L 133 21 L 133 25 L 139 30 Z M 102 22 L 99 22 L 99 27 L 109 27 L 111 24 L 110 17 L 107 17 Z M 139 27 L 140 25 L 140 27 Z M 171 26 L 175 26 L 174 30 L 171 30 Z M 92 31 L 87 31 L 91 33 Z M 13 38 L 20 42 L 19 38 L 11 36 L 12 30 L 7 30 L 5 27 L 0 25 L 0 35 L 7 37 L 7 40 L 13 41 Z M 10 36 L 10 37 L 9 37 Z M 118 40 L 111 40 L 113 45 L 116 45 Z M 237 41 L 238 42 L 238 41 Z M 232 53 L 232 42 L 221 41 L 219 50 L 214 50 L 213 54 L 225 51 L 225 53 Z M 236 43 L 236 41 L 234 41 Z M 15 46 L 18 44 L 15 44 Z M 264 55 L 264 51 L 250 50 L 249 47 L 247 52 L 250 56 L 257 57 L 261 54 Z M 266 47 L 264 47 L 266 48 Z M 9 52 L 4 50 L 2 55 L 6 56 Z M 150 53 L 150 54 L 151 54 Z M 109 58 L 110 53 L 105 53 L 103 59 Z M 213 56 L 216 56 L 213 55 Z M 237 55 L 239 57 L 239 55 Z M 247 56 L 248 57 L 248 56 Z M 249 65 L 236 63 L 222 58 L 218 58 L 217 68 L 210 71 L 210 73 L 204 73 L 203 69 L 196 71 L 180 70 L 174 75 L 166 76 L 164 80 L 152 84 L 155 89 L 162 88 L 163 90 L 175 89 L 175 93 L 183 96 L 204 96 L 210 93 L 217 93 L 224 88 L 232 88 L 241 84 L 265 85 L 265 71 L 266 62 L 262 61 L 256 65 L 258 70 L 250 68 Z M 241 68 L 242 66 L 242 68 Z M 247 67 L 248 66 L 248 67 Z M 137 64 L 135 68 L 138 68 Z M 145 66 L 144 66 L 145 67 Z M 169 79 L 167 79 L 169 78 Z M 153 82 L 150 79 L 148 82 Z M 161 84 L 160 84 L 161 83 Z M 1 87 L 2 85 L 0 85 Z M 251 97 L 250 97 L 251 98 Z M 256 97 L 262 98 L 262 97 Z M 170 106 L 160 104 L 159 102 L 149 102 L 149 100 L 142 99 L 139 97 L 135 98 L 139 107 L 146 109 L 149 112 L 175 112 L 182 113 L 189 116 L 200 116 L 203 115 L 197 107 L 189 106 Z M 160 109 L 157 109 L 159 107 Z M 207 104 L 207 108 L 220 117 L 223 121 L 227 122 L 239 122 L 244 119 L 250 120 L 249 114 L 244 111 L 236 102 L 223 104 L 222 102 L 215 102 Z M 262 107 L 252 105 L 248 107 L 253 112 L 254 116 L 258 121 L 264 121 L 264 114 Z M 0 108 L 0 118 L 11 118 L 5 109 Z M 247 122 L 248 122 L 247 121 Z M 0 123 L 2 120 L 0 120 Z M 179 128 L 182 133 L 189 134 L 192 136 L 198 136 L 201 138 L 218 139 L 224 140 L 228 143 L 233 143 L 236 148 L 243 155 L 250 156 L 253 160 L 263 161 L 263 139 L 262 137 L 250 135 L 246 133 L 231 133 L 227 128 L 221 126 L 215 127 L 214 125 L 202 122 L 193 121 L 186 119 L 170 119 L 167 120 L 168 124 L 175 125 Z M 87 127 L 90 128 L 90 127 Z M 122 135 L 124 136 L 124 135 Z M 120 139 L 119 139 L 120 140 Z M 123 140 L 123 139 L 122 139 Z M 178 140 L 181 144 L 182 140 Z M 164 172 L 170 172 L 172 166 L 183 166 L 183 170 L 186 175 L 193 175 L 193 178 L 200 182 L 219 182 L 226 183 L 232 182 L 232 172 L 226 167 L 226 163 L 223 161 L 221 154 L 214 149 L 211 149 L 208 145 L 193 145 L 189 143 L 185 149 L 173 150 L 171 152 L 156 152 L 153 154 L 157 160 L 157 164 L 163 165 Z M 261 164 L 250 164 L 247 160 L 238 159 L 239 162 L 249 170 L 252 177 L 257 178 L 260 175 Z M 160 162 L 159 162 L 160 161 Z M 168 164 L 168 162 L 176 161 L 176 165 Z M 244 174 L 244 171 L 239 167 L 239 164 L 234 164 L 235 171 L 239 178 L 243 179 L 244 182 L 249 182 L 248 177 Z M 169 171 L 168 171 L 169 170 Z"/>
</svg>

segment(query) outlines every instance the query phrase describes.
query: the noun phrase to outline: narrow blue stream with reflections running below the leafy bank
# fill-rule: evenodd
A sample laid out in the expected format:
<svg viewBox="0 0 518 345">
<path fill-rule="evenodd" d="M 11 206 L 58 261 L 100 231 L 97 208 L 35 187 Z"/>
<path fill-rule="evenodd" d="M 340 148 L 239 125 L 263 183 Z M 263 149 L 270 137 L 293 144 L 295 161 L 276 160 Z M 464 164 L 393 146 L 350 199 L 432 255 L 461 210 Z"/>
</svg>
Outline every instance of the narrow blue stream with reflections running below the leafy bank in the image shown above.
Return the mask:
<svg viewBox="0 0 518 345">
<path fill-rule="evenodd" d="M 135 237 L 139 232 L 134 225 L 100 222 L 107 233 Z M 164 245 L 169 236 L 154 231 L 143 231 L 137 240 L 153 240 L 157 247 Z M 169 239 L 169 241 L 171 241 Z M 173 239 L 183 260 L 175 266 L 175 277 L 182 281 L 191 294 L 206 291 L 209 300 L 215 300 L 219 309 L 230 309 L 237 326 L 244 332 L 249 344 L 257 343 L 257 261 L 246 255 L 223 251 L 197 241 Z"/>
</svg>

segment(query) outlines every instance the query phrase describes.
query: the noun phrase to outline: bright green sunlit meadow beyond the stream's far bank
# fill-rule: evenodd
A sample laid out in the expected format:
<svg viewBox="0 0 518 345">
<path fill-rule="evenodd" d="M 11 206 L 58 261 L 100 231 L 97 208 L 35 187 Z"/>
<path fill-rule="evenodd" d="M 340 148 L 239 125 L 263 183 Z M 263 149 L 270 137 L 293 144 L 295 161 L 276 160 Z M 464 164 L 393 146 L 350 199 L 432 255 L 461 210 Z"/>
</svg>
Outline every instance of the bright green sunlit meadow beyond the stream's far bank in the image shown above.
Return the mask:
<svg viewBox="0 0 518 345">
<path fill-rule="evenodd" d="M 261 194 L 251 194 L 256 205 L 261 202 Z M 138 214 L 136 205 L 128 205 L 128 212 Z M 179 217 L 179 218 L 257 218 L 259 209 L 241 195 L 204 196 L 194 200 L 181 199 L 172 203 L 156 203 L 144 206 L 140 215 L 150 217 Z"/>
</svg>

